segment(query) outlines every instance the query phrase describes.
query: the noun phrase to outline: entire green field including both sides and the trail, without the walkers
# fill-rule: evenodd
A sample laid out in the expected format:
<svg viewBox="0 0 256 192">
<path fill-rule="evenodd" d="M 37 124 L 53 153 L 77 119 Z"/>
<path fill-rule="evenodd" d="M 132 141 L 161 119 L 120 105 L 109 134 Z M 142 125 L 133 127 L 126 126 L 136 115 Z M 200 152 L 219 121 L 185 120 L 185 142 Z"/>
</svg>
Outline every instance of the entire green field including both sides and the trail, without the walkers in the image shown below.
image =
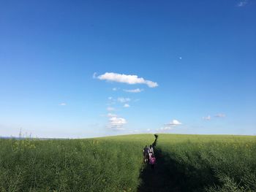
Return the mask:
<svg viewBox="0 0 256 192">
<path fill-rule="evenodd" d="M 256 137 L 0 139 L 0 191 L 256 191 Z"/>
</svg>

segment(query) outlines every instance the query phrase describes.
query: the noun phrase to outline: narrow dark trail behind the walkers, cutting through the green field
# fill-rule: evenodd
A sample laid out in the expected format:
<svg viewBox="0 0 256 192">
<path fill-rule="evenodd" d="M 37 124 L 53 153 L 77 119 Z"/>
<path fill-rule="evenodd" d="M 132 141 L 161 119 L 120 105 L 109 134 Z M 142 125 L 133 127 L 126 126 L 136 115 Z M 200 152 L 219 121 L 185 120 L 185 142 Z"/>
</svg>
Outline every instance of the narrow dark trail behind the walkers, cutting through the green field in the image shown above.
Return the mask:
<svg viewBox="0 0 256 192">
<path fill-rule="evenodd" d="M 155 165 L 154 170 L 151 169 L 149 164 L 143 169 L 143 172 L 140 174 L 142 184 L 139 186 L 138 191 L 181 191 L 181 186 L 178 186 L 175 181 L 174 173 L 168 171 L 170 162 L 165 162 L 164 154 L 156 147 L 158 136 L 155 135 L 155 137 L 152 145 L 154 146 L 154 154 L 157 158 L 157 164 Z"/>
</svg>

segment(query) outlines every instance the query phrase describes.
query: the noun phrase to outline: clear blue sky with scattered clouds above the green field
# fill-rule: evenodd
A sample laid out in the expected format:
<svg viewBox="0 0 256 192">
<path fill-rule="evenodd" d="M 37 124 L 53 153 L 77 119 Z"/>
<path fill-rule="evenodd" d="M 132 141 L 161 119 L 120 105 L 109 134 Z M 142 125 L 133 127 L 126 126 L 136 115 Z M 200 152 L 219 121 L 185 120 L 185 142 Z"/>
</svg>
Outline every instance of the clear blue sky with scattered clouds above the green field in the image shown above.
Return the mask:
<svg viewBox="0 0 256 192">
<path fill-rule="evenodd" d="M 256 134 L 255 1 L 5 1 L 0 135 Z"/>
</svg>

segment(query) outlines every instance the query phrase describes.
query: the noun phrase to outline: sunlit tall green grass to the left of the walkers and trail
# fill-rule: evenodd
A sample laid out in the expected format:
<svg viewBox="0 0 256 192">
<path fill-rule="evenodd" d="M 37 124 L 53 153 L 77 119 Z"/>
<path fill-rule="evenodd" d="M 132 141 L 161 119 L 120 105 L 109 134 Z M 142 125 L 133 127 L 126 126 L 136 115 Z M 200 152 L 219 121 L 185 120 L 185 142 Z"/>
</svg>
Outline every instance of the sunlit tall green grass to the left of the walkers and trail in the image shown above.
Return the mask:
<svg viewBox="0 0 256 192">
<path fill-rule="evenodd" d="M 136 191 L 153 135 L 0 139 L 0 191 Z"/>
</svg>

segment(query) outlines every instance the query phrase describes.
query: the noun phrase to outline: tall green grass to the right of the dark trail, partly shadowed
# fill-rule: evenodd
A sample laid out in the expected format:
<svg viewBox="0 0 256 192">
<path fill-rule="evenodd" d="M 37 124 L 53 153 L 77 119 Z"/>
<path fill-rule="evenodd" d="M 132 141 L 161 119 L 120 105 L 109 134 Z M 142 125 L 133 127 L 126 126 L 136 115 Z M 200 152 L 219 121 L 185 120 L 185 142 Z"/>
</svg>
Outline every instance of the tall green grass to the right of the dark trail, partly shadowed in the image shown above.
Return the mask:
<svg viewBox="0 0 256 192">
<path fill-rule="evenodd" d="M 159 135 L 182 191 L 256 191 L 256 137 Z"/>
</svg>

